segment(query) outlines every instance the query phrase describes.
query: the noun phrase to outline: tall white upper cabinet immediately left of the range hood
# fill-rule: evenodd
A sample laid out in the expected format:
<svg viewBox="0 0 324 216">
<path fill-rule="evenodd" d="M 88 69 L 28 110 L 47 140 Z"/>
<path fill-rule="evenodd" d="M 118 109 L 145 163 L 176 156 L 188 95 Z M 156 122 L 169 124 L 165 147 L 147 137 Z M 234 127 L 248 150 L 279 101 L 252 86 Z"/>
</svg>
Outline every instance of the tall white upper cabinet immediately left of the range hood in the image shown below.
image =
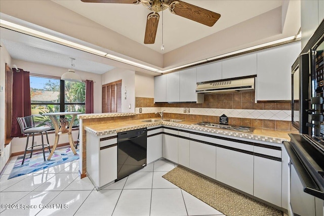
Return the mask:
<svg viewBox="0 0 324 216">
<path fill-rule="evenodd" d="M 197 101 L 196 74 L 196 68 L 180 71 L 180 102 Z"/>
</svg>

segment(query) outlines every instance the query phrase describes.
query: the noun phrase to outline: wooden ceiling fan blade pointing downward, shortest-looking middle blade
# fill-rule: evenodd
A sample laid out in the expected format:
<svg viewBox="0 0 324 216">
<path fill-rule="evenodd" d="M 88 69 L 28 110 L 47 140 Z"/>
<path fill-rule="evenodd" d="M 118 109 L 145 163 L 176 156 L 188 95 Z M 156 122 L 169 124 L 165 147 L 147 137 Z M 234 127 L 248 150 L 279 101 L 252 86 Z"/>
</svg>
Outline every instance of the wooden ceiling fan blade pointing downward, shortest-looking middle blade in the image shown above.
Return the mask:
<svg viewBox="0 0 324 216">
<path fill-rule="evenodd" d="M 158 13 L 153 12 L 147 15 L 144 44 L 154 44 L 158 19 Z"/>
</svg>

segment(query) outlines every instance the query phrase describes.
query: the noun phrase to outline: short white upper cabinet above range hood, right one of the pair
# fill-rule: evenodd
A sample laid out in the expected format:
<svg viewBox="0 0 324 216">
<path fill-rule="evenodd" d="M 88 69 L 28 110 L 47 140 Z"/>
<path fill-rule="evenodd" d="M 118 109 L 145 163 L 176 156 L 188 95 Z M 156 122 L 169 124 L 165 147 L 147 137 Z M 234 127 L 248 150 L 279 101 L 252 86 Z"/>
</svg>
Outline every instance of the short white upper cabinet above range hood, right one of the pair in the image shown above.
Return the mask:
<svg viewBox="0 0 324 216">
<path fill-rule="evenodd" d="M 246 54 L 222 62 L 222 79 L 257 74 L 257 54 Z"/>
</svg>

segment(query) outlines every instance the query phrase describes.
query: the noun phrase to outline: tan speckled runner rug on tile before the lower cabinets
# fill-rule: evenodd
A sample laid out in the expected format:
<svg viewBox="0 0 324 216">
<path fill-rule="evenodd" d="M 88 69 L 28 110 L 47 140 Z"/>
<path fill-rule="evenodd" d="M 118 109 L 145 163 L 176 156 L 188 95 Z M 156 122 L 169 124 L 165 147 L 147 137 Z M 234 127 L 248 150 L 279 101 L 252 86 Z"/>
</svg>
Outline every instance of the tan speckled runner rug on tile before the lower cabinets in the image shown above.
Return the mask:
<svg viewBox="0 0 324 216">
<path fill-rule="evenodd" d="M 227 216 L 280 215 L 282 212 L 244 194 L 177 166 L 163 176 Z"/>
</svg>

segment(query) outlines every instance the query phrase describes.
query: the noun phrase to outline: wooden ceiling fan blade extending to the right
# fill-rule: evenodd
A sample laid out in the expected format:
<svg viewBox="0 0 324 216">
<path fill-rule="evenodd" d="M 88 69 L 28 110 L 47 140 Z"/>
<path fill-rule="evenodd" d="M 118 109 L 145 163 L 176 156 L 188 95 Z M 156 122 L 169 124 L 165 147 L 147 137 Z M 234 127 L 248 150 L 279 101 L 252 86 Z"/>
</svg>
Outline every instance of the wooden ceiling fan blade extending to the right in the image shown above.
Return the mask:
<svg viewBox="0 0 324 216">
<path fill-rule="evenodd" d="M 207 26 L 213 26 L 221 17 L 221 15 L 218 13 L 182 1 L 172 1 L 170 3 L 169 10 L 173 14 Z"/>
</svg>

